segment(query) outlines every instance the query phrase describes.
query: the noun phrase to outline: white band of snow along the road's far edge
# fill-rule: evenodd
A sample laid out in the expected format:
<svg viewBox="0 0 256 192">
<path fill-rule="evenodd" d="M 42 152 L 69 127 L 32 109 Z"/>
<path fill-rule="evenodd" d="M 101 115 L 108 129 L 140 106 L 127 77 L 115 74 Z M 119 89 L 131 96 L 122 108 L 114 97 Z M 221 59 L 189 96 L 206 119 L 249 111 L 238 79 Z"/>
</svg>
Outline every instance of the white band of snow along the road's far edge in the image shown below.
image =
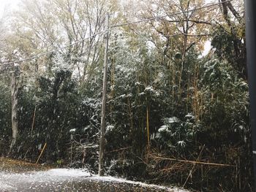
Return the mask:
<svg viewBox="0 0 256 192">
<path fill-rule="evenodd" d="M 140 185 L 142 187 L 162 189 L 166 191 L 175 192 L 189 192 L 180 188 L 167 188 L 160 185 L 149 185 L 146 183 L 135 182 L 131 180 L 125 180 L 117 177 L 99 177 L 96 174 L 91 174 L 83 169 L 50 169 L 48 171 L 41 172 L 27 172 L 27 173 L 7 173 L 0 172 L 0 191 L 1 190 L 15 190 L 17 186 L 29 184 L 34 185 L 35 183 L 58 183 L 66 182 L 69 180 L 94 180 L 110 183 L 128 183 L 132 185 Z"/>
</svg>

